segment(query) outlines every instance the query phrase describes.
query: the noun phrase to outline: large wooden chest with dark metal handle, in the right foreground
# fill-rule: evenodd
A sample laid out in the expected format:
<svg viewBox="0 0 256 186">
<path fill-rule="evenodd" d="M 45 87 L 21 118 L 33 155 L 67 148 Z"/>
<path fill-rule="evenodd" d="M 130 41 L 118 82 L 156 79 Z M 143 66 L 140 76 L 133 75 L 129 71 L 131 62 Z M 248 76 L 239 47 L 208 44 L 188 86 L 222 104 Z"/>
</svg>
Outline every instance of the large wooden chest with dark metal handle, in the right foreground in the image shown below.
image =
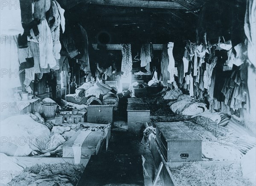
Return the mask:
<svg viewBox="0 0 256 186">
<path fill-rule="evenodd" d="M 183 122 L 156 123 L 157 144 L 167 162 L 201 161 L 202 139 Z"/>
</svg>

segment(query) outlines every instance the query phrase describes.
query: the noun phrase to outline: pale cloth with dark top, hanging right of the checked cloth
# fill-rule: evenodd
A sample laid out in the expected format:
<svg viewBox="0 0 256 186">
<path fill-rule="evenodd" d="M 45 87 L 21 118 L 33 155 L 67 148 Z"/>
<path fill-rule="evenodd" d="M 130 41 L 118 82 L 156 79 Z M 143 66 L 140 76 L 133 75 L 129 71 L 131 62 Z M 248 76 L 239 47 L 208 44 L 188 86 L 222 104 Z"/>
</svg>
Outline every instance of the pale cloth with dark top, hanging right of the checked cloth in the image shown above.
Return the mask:
<svg viewBox="0 0 256 186">
<path fill-rule="evenodd" d="M 151 50 L 150 44 L 142 45 L 140 53 L 140 66 L 145 67 L 145 69 L 150 72 L 150 62 L 151 62 Z"/>
</svg>

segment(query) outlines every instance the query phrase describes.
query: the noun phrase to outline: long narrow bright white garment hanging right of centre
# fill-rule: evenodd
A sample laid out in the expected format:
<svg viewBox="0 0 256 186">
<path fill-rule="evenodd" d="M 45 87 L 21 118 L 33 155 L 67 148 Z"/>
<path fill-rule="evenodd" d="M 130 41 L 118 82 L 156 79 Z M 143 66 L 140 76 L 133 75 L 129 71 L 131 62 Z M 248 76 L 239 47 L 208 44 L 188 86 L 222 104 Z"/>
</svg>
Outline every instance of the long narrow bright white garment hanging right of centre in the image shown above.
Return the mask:
<svg viewBox="0 0 256 186">
<path fill-rule="evenodd" d="M 169 42 L 168 44 L 168 56 L 169 56 L 169 65 L 168 72 L 170 73 L 170 77 L 168 79 L 168 83 L 174 82 L 174 76 L 177 75 L 177 68 L 175 68 L 175 60 L 172 54 L 173 51 L 173 42 Z"/>
</svg>

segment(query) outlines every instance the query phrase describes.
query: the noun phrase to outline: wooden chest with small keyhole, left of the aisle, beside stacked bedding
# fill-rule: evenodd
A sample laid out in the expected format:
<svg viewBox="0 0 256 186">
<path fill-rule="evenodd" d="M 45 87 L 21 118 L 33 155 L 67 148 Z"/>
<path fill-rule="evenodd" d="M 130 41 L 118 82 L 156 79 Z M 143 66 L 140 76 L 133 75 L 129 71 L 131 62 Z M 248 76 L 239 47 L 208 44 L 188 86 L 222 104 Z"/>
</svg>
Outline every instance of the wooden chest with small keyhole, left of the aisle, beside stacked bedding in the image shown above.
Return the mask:
<svg viewBox="0 0 256 186">
<path fill-rule="evenodd" d="M 113 106 L 89 105 L 87 107 L 87 122 L 113 125 Z"/>
</svg>

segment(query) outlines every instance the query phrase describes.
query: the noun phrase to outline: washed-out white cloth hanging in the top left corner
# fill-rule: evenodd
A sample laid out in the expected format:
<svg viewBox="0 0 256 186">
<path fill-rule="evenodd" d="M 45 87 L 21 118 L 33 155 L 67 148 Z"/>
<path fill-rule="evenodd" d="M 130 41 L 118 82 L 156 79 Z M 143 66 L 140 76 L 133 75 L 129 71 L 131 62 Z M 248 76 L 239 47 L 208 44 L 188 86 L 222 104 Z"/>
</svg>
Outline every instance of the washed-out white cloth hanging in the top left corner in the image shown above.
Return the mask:
<svg viewBox="0 0 256 186">
<path fill-rule="evenodd" d="M 2 3 L 2 1 L 1 1 Z M 6 1 L 7 5 L 1 4 L 0 11 L 0 28 L 1 28 L 1 41 L 11 39 L 18 34 L 22 34 L 24 29 L 21 24 L 21 11 L 17 8 L 20 4 L 19 0 Z M 9 3 L 12 3 L 12 8 L 9 8 Z"/>
</svg>

